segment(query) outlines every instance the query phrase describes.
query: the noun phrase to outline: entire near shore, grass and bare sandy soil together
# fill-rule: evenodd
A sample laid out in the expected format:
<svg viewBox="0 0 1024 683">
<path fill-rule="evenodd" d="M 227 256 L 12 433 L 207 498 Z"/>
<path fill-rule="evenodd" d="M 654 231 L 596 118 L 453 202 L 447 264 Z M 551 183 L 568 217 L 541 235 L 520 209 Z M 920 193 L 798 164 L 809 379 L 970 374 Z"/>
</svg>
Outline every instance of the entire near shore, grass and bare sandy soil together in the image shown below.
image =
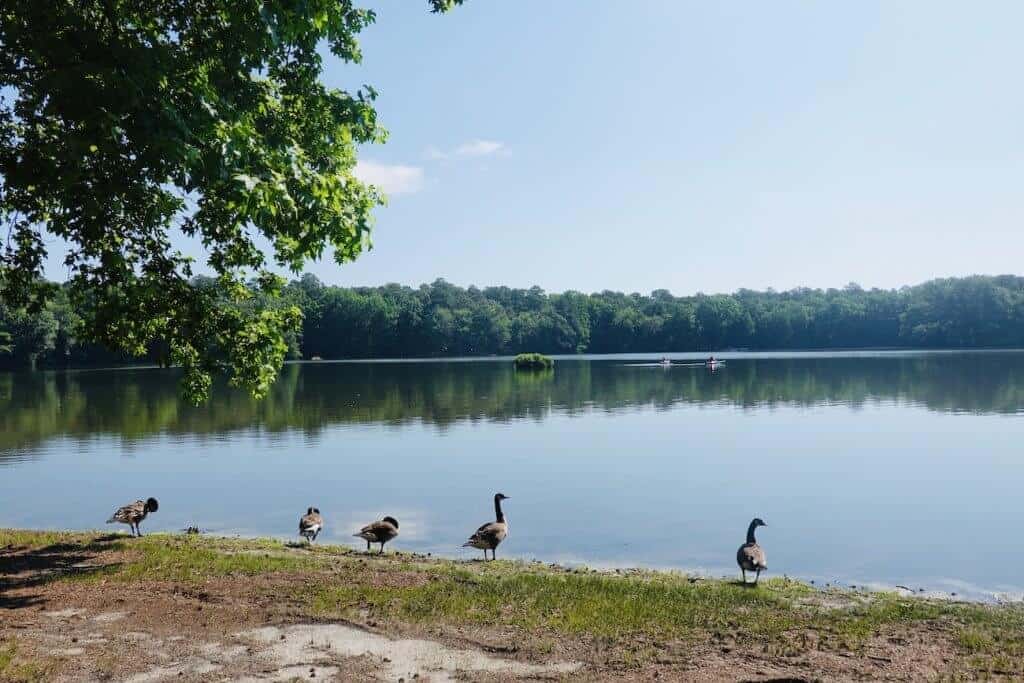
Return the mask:
<svg viewBox="0 0 1024 683">
<path fill-rule="evenodd" d="M 0 529 L 0 586 L 4 680 L 1024 676 L 1020 605 L 778 577 Z"/>
</svg>

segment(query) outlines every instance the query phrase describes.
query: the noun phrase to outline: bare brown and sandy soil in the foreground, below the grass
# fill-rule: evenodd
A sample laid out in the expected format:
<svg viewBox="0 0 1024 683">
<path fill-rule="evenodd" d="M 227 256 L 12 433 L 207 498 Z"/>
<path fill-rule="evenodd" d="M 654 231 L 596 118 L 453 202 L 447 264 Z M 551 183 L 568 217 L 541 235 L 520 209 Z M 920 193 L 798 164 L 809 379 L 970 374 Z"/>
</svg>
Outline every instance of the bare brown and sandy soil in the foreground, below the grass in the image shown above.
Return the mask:
<svg viewBox="0 0 1024 683">
<path fill-rule="evenodd" d="M 814 633 L 770 651 L 741 638 L 624 644 L 511 628 L 382 624 L 369 614 L 326 623 L 296 598 L 308 580 L 301 572 L 198 584 L 52 581 L 124 560 L 103 540 L 0 549 L 0 640 L 52 681 L 920 680 L 954 666 L 947 636 L 927 627 L 879 633 L 856 651 L 818 648 L 825 634 Z M 377 571 L 375 562 L 360 566 L 375 582 L 423 581 L 415 571 Z"/>
</svg>

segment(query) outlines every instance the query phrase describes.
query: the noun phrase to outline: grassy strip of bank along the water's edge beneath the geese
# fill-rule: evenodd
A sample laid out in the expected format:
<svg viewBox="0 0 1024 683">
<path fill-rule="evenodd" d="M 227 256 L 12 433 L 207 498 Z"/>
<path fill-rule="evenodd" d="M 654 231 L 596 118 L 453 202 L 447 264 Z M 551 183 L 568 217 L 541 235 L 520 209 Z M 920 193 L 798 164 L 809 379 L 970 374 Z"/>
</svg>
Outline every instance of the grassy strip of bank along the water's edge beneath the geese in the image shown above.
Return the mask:
<svg viewBox="0 0 1024 683">
<path fill-rule="evenodd" d="M 538 656 L 586 642 L 601 643 L 624 667 L 654 661 L 670 644 L 675 651 L 711 648 L 718 655 L 736 651 L 783 660 L 812 653 L 885 658 L 871 654 L 880 638 L 898 644 L 925 634 L 945 643 L 951 670 L 1024 674 L 1024 609 L 1013 606 L 823 592 L 785 579 L 752 588 L 680 573 L 609 573 L 404 553 L 378 558 L 340 546 L 307 549 L 182 535 L 129 539 L 0 530 L 0 549 L 6 549 L 5 577 L 31 567 L 37 585 L 75 583 L 112 593 L 132 585 L 173 586 L 226 595 L 238 584 L 247 599 L 287 596 L 293 616 L 427 632 L 511 630 Z M 14 647 L 4 646 L 0 665 L 31 665 L 2 655 Z"/>
</svg>

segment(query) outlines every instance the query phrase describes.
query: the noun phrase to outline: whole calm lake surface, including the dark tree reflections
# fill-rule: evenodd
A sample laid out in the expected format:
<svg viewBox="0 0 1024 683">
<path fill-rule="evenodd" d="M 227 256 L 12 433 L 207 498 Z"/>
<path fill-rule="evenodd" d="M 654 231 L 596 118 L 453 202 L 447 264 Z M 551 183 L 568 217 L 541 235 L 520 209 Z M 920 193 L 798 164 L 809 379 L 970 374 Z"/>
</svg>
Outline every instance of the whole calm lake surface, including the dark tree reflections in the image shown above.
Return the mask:
<svg viewBox="0 0 1024 683">
<path fill-rule="evenodd" d="M 973 597 L 1024 592 L 1024 353 L 731 354 L 289 366 L 263 402 L 177 399 L 173 371 L 0 374 L 0 525 L 328 542 L 384 514 L 399 549 L 733 573 L 754 516 L 771 574 Z M 676 354 L 675 358 L 693 357 Z"/>
</svg>

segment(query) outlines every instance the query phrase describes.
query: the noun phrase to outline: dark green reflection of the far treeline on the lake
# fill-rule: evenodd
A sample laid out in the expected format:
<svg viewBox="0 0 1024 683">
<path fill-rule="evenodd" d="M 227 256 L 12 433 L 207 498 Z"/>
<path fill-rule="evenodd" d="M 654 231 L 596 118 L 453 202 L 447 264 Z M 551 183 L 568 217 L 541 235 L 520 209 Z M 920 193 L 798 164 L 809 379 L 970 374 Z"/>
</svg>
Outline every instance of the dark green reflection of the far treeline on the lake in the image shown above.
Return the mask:
<svg viewBox="0 0 1024 683">
<path fill-rule="evenodd" d="M 743 409 L 893 401 L 943 413 L 1009 415 L 1024 408 L 1024 354 L 921 353 L 797 357 L 735 355 L 726 368 L 642 367 L 621 358 L 562 359 L 550 374 L 504 361 L 300 364 L 254 401 L 218 386 L 195 408 L 177 373 L 117 370 L 0 374 L 0 461 L 57 437 L 301 430 L 315 439 L 337 423 L 444 429 L 464 421 L 544 420 L 553 413 L 615 413 L 681 403 Z M 20 452 L 20 453 L 19 453 Z"/>
</svg>

